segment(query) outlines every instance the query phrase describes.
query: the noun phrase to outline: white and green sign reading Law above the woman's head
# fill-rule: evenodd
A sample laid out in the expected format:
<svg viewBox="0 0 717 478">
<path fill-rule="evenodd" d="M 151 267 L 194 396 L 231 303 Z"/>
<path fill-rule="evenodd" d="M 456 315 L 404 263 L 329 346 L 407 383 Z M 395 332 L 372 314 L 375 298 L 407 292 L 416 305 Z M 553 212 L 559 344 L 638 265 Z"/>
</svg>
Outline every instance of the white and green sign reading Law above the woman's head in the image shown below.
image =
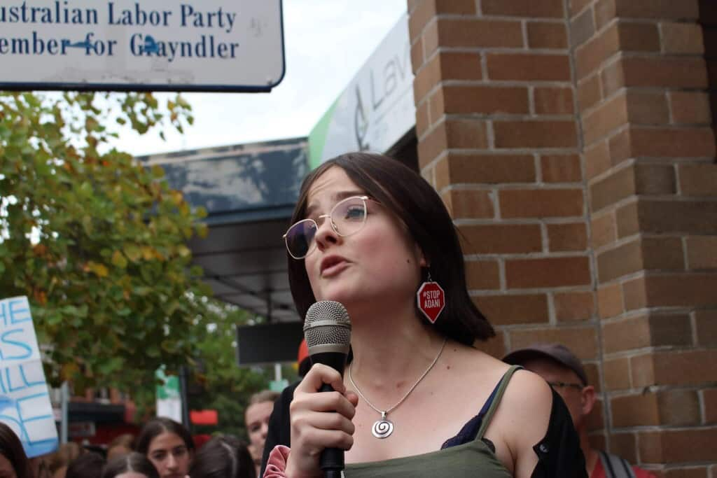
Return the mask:
<svg viewBox="0 0 717 478">
<path fill-rule="evenodd" d="M 385 153 L 416 124 L 408 14 L 386 35 L 309 135 L 315 168 L 342 153 Z"/>
</svg>

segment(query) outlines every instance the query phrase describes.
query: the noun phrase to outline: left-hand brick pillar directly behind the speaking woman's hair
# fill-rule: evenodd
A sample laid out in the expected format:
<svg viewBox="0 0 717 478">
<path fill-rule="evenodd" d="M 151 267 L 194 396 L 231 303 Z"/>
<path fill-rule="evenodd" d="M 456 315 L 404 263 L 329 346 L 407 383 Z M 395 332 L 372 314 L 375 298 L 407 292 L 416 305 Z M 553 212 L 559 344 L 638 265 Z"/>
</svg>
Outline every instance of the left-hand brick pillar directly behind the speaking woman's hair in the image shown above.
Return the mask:
<svg viewBox="0 0 717 478">
<path fill-rule="evenodd" d="M 450 209 L 493 355 L 599 327 L 564 0 L 409 1 L 419 166 Z M 597 409 L 596 429 L 602 428 Z"/>
</svg>

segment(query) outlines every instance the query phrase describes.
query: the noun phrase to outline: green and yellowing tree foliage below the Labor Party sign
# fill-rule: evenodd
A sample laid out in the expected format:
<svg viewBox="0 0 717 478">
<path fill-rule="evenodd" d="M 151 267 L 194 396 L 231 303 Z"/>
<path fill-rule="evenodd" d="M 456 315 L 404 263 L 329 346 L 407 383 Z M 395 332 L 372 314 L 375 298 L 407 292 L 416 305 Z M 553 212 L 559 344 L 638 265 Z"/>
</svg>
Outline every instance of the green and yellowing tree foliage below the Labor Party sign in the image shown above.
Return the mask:
<svg viewBox="0 0 717 478">
<path fill-rule="evenodd" d="M 115 122 L 181 130 L 191 115 L 150 93 L 0 92 L 0 291 L 29 297 L 54 385 L 133 390 L 191 360 L 204 321 L 186 247 L 204 211 L 110 150 Z"/>
</svg>

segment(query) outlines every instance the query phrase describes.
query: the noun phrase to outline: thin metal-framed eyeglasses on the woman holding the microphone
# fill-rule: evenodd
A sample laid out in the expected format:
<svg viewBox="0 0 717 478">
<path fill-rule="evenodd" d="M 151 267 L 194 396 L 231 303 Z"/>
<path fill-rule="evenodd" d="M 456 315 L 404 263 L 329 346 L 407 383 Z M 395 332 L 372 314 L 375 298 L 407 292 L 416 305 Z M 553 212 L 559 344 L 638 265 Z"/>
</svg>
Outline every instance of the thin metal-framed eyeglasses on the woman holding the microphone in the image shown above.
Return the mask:
<svg viewBox="0 0 717 478">
<path fill-rule="evenodd" d="M 303 219 L 291 226 L 284 241 L 286 249 L 294 259 L 303 259 L 316 247 L 316 231 L 318 221 L 326 219 L 331 222 L 331 229 L 341 237 L 351 236 L 364 228 L 366 224 L 366 201 L 369 196 L 351 196 L 338 201 L 329 214 L 322 214 L 314 219 Z"/>
</svg>

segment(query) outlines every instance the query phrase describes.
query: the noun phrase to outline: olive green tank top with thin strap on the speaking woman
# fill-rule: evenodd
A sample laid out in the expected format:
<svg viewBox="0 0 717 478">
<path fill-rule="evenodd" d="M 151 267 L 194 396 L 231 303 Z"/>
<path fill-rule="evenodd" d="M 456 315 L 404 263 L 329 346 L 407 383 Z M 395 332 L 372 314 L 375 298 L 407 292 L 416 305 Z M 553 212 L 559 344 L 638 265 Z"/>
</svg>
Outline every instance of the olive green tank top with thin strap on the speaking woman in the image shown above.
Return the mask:
<svg viewBox="0 0 717 478">
<path fill-rule="evenodd" d="M 347 464 L 344 476 L 346 478 L 512 478 L 513 475 L 508 472 L 508 469 L 505 469 L 503 463 L 498 457 L 495 457 L 493 451 L 482 439 L 485 430 L 488 429 L 490 419 L 495 414 L 495 409 L 498 408 L 500 398 L 503 396 L 505 388 L 508 387 L 508 381 L 519 368 L 521 367 L 513 365 L 500 379 L 493 403 L 490 404 L 488 412 L 483 417 L 483 422 L 473 441 L 413 457 Z"/>
</svg>

